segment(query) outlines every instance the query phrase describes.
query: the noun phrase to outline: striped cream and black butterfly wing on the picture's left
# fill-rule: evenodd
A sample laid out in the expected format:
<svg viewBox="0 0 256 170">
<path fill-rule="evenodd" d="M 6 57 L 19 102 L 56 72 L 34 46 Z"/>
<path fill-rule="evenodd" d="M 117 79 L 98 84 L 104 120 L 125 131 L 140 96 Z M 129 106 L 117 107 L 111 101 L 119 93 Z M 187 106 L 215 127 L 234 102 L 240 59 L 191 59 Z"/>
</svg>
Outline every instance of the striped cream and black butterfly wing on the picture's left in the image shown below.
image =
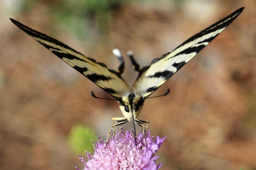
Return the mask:
<svg viewBox="0 0 256 170">
<path fill-rule="evenodd" d="M 11 21 L 30 37 L 49 49 L 53 54 L 57 55 L 60 59 L 89 78 L 93 83 L 117 100 L 129 89 L 119 72 L 108 69 L 105 64 L 97 63 L 94 59 L 85 57 L 66 44 L 33 30 L 14 19 L 11 19 Z"/>
</svg>

